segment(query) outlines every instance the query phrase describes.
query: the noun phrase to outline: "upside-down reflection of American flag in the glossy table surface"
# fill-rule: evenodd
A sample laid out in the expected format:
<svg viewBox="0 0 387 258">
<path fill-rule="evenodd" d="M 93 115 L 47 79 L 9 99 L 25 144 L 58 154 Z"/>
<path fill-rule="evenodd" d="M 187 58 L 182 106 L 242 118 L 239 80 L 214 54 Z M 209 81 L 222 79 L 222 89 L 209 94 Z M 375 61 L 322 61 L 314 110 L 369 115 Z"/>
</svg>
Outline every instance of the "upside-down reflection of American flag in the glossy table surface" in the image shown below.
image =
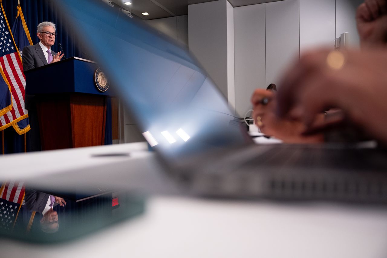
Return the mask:
<svg viewBox="0 0 387 258">
<path fill-rule="evenodd" d="M 25 185 L 23 182 L 10 181 L 0 188 L 0 230 L 12 230 L 22 201 Z"/>
</svg>

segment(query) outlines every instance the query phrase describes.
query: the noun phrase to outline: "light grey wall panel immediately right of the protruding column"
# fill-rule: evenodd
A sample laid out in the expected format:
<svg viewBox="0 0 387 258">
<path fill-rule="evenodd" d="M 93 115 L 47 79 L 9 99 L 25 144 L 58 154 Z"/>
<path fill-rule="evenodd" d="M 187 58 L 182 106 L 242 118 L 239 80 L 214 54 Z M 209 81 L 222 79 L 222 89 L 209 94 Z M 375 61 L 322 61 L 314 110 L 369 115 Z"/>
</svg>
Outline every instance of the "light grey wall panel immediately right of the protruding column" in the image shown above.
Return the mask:
<svg viewBox="0 0 387 258">
<path fill-rule="evenodd" d="M 265 88 L 265 4 L 234 8 L 235 108 L 243 117 L 256 88 Z"/>
</svg>

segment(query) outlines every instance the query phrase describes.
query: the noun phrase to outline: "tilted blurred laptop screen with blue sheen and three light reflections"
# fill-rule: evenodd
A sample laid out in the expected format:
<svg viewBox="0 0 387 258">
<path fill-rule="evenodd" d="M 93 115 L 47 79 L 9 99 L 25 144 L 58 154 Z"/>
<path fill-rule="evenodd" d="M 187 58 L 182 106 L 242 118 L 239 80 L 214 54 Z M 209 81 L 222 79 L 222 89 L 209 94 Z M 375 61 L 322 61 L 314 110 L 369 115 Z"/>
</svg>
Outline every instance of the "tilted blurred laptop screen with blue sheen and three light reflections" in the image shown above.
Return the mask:
<svg viewBox="0 0 387 258">
<path fill-rule="evenodd" d="M 251 141 L 210 77 L 177 41 L 102 1 L 57 4 L 161 154 L 179 158 Z"/>
</svg>

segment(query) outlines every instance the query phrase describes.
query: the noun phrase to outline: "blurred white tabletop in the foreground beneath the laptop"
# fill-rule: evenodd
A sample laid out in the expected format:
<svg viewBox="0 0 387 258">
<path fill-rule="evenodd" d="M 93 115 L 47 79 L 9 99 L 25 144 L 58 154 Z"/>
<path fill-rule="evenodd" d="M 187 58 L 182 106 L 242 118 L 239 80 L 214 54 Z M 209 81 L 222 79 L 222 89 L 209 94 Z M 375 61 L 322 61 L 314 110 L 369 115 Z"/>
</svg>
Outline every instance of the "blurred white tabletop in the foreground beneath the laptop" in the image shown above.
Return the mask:
<svg viewBox="0 0 387 258">
<path fill-rule="evenodd" d="M 74 171 L 83 174 L 88 167 L 94 170 L 97 163 L 98 167 L 109 165 L 110 172 L 114 172 L 115 164 L 120 164 L 126 167 L 130 179 L 131 174 L 137 176 L 134 170 L 145 166 L 157 170 L 152 153 L 146 150 L 146 144 L 134 143 L 5 155 L 0 161 L 7 170 L 0 177 L 33 179 L 34 175 L 46 177 Z M 92 153 L 125 151 L 130 152 L 130 158 L 105 157 L 96 161 L 91 157 Z M 44 167 L 43 160 L 47 163 Z M 18 166 L 13 167 L 14 163 Z M 142 173 L 146 174 L 147 169 Z M 384 208 L 205 200 L 162 194 L 150 196 L 146 206 L 146 212 L 139 217 L 75 241 L 47 246 L 0 239 L 0 257 L 387 256 Z"/>
</svg>

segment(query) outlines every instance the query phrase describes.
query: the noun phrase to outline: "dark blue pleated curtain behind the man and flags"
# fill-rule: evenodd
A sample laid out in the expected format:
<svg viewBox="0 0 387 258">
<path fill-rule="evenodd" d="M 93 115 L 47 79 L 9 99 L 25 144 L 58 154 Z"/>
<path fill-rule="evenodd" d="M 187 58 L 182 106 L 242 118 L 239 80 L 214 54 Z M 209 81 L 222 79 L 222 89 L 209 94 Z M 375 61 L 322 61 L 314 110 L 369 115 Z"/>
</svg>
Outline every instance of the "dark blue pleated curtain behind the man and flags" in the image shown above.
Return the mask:
<svg viewBox="0 0 387 258">
<path fill-rule="evenodd" d="M 17 15 L 17 0 L 2 0 L 2 5 L 5 15 L 7 15 L 9 26 L 12 28 Z M 55 44 L 52 46 L 53 51 L 61 51 L 58 45 L 58 43 L 61 43 L 66 57 L 92 59 L 89 55 L 84 53 L 84 49 L 86 48 L 80 40 L 77 40 L 73 29 L 65 22 L 62 22 L 62 17 L 60 17 L 56 7 L 51 4 L 51 0 L 20 0 L 20 6 L 33 44 L 39 42 L 38 36 L 36 36 L 36 26 L 40 22 L 50 21 L 56 25 L 58 34 L 55 39 Z M 106 114 L 105 144 L 112 144 L 110 100 L 108 100 Z M 27 137 L 29 137 L 28 134 L 29 132 L 27 132 Z M 2 144 L 1 141 L 0 138 L 0 144 Z M 19 136 L 12 127 L 4 130 L 4 143 L 5 153 L 24 152 L 24 136 Z M 29 151 L 28 145 L 27 151 Z"/>
</svg>

